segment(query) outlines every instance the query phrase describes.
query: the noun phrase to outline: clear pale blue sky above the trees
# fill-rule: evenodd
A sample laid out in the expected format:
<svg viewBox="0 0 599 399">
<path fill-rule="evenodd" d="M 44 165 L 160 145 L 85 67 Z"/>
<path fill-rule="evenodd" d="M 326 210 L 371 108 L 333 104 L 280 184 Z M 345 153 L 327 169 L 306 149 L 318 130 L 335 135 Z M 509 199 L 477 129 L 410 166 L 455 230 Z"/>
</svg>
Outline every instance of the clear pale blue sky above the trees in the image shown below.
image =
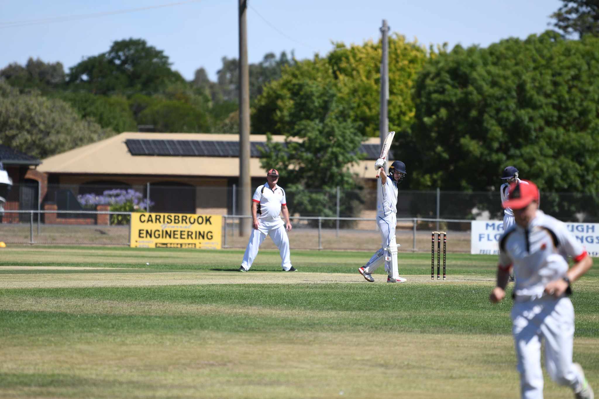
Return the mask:
<svg viewBox="0 0 599 399">
<path fill-rule="evenodd" d="M 2 23 L 123 10 L 177 0 L 20 0 L 2 4 Z M 325 54 L 331 41 L 361 44 L 379 38 L 382 19 L 392 32 L 422 44 L 483 47 L 502 38 L 545 31 L 559 0 L 249 0 L 250 62 L 265 53 L 295 50 L 298 58 Z M 68 70 L 111 42 L 143 38 L 164 50 L 185 78 L 200 66 L 215 80 L 223 56 L 237 57 L 237 0 L 191 4 L 43 25 L 0 28 L 0 68 L 28 57 L 60 61 Z M 254 11 L 255 10 L 255 11 Z M 282 35 L 264 21 L 256 11 Z M 289 36 L 289 37 L 286 37 Z M 290 39 L 291 38 L 291 39 Z M 301 42 L 299 44 L 298 42 Z"/>
</svg>

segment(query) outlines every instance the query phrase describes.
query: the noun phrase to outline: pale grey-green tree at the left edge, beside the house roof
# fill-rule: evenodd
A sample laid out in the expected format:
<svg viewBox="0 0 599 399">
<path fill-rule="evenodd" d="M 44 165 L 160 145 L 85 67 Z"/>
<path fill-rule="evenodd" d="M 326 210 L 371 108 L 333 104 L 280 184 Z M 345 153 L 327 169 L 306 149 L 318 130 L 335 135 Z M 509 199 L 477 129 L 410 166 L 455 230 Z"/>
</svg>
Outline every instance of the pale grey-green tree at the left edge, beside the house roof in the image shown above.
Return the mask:
<svg viewBox="0 0 599 399">
<path fill-rule="evenodd" d="M 63 100 L 21 94 L 0 81 L 0 140 L 7 147 L 45 158 L 112 135 Z"/>
</svg>

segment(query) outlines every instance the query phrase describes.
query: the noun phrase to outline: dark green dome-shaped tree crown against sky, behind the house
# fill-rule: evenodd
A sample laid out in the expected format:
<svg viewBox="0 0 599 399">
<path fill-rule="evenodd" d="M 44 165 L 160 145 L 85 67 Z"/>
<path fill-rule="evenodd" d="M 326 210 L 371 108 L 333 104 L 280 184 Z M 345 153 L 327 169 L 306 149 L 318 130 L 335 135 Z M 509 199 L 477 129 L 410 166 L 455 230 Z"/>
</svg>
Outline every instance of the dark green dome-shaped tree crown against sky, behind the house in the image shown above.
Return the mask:
<svg viewBox="0 0 599 399">
<path fill-rule="evenodd" d="M 69 69 L 69 87 L 92 92 L 159 92 L 182 82 L 168 56 L 143 39 L 115 41 L 106 53 L 87 57 Z"/>
</svg>

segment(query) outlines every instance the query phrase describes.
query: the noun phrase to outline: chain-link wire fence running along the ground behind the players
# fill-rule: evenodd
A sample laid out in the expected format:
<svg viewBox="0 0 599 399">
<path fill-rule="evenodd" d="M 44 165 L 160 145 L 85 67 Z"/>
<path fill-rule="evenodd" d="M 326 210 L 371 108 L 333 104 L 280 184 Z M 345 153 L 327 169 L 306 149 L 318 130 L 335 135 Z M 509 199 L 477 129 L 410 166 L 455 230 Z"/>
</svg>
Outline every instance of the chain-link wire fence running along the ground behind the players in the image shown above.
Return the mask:
<svg viewBox="0 0 599 399">
<path fill-rule="evenodd" d="M 252 193 L 255 187 L 252 188 Z M 294 249 L 372 250 L 380 247 L 376 190 L 286 190 Z M 14 185 L 0 209 L 0 240 L 6 243 L 129 245 L 131 212 L 223 216 L 223 246 L 244 248 L 239 236 L 240 189 L 235 185 Z M 599 220 L 598 197 L 541 193 L 541 209 L 562 221 Z M 400 190 L 397 203 L 400 251 L 428 251 L 430 233 L 449 232 L 447 251 L 470 251 L 470 222 L 501 220 L 497 191 Z M 267 238 L 264 248 L 276 248 Z"/>
</svg>

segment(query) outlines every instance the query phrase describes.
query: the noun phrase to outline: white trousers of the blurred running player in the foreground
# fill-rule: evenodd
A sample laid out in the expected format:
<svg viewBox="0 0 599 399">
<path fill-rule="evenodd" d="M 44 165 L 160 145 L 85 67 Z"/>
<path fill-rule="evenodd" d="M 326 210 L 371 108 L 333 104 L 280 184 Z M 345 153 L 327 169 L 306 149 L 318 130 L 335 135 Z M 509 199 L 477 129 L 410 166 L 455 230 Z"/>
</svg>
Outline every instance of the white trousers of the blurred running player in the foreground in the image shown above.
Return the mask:
<svg viewBox="0 0 599 399">
<path fill-rule="evenodd" d="M 541 339 L 549 377 L 574 392 L 582 389 L 582 376 L 572 364 L 574 307 L 568 297 L 544 296 L 521 303 L 516 299 L 512 325 L 523 399 L 543 399 Z"/>
</svg>

